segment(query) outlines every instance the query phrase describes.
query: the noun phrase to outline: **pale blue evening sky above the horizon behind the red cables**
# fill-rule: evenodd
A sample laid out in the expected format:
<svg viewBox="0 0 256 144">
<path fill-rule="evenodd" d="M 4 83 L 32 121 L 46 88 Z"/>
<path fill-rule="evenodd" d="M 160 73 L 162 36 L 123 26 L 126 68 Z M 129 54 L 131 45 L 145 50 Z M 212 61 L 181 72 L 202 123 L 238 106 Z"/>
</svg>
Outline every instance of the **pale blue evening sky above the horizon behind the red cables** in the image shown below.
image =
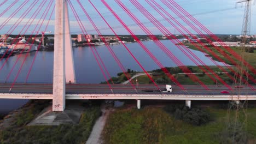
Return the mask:
<svg viewBox="0 0 256 144">
<path fill-rule="evenodd" d="M 26 0 L 19 1 L 18 3 L 15 4 L 15 6 L 19 7 L 19 5 L 25 1 Z M 177 15 L 171 13 L 171 10 L 167 9 L 167 7 L 163 3 L 161 3 L 159 0 L 155 0 L 155 1 L 158 2 L 163 8 L 168 10 L 168 12 L 170 12 L 170 14 L 173 17 L 175 17 L 175 18 L 178 17 Z M 11 2 L 13 2 L 13 1 L 11 1 Z M 8 5 L 10 5 L 11 2 L 8 1 L 4 5 L 2 5 L 1 6 L 2 9 L 4 10 L 5 7 L 8 7 Z M 39 1 L 39 3 L 40 2 L 43 2 L 43 1 Z M 45 5 L 47 5 L 48 2 L 50 2 L 50 1 L 47 1 Z M 76 1 L 72 1 L 72 2 L 73 2 L 75 10 L 77 10 L 77 13 L 78 13 L 80 19 L 83 21 L 83 25 L 85 26 L 86 31 L 88 31 L 89 34 L 97 34 L 95 29 L 91 26 L 89 20 L 83 13 L 82 9 L 79 7 L 78 3 Z M 150 31 L 152 31 L 154 34 L 162 34 L 158 29 L 156 29 L 153 26 L 152 23 L 149 22 L 148 19 L 146 19 L 146 17 L 144 17 L 141 13 L 139 13 L 139 11 L 135 8 L 135 6 L 130 4 L 130 2 L 128 0 L 122 1 L 122 2 L 126 5 L 127 8 L 129 8 L 131 10 L 131 12 L 133 14 L 135 14 L 138 17 L 138 19 L 142 23 L 145 24 L 145 26 L 147 28 L 150 29 Z M 174 30 L 174 28 L 171 27 L 171 25 L 169 23 L 167 23 L 167 21 L 164 20 L 163 17 L 159 16 L 158 13 L 155 10 L 153 10 L 153 8 L 150 7 L 149 4 L 147 4 L 145 1 L 143 1 L 143 2 L 140 1 L 140 2 L 142 5 L 144 5 L 144 8 L 146 8 L 149 11 L 149 13 L 154 15 L 154 17 L 162 23 L 162 25 L 164 25 L 166 28 L 168 28 L 173 34 L 179 34 L 177 32 L 177 30 Z M 195 1 L 186 1 L 186 2 L 177 0 L 176 2 L 179 5 L 181 5 L 181 7 L 183 7 L 186 11 L 188 11 L 188 13 L 193 15 L 195 17 L 195 19 L 197 19 L 199 22 L 201 22 L 205 27 L 210 29 L 210 31 L 214 34 L 238 34 L 238 35 L 241 34 L 245 4 L 243 4 L 243 7 L 241 7 L 241 5 L 238 4 L 237 7 L 235 8 L 236 2 L 237 2 L 236 0 L 225 1 L 225 2 L 220 1 L 220 0 L 212 0 L 212 1 L 195 0 Z M 24 9 L 25 10 L 28 9 L 32 3 L 33 2 L 31 2 L 31 1 L 28 2 L 28 4 L 25 5 Z M 39 5 L 39 3 L 37 5 Z M 139 26 L 137 26 L 135 24 L 135 22 L 125 13 L 125 11 L 123 9 L 121 9 L 117 3 L 114 2 L 114 0 L 107 1 L 107 3 L 121 17 L 121 19 L 126 23 L 126 25 L 129 26 L 129 28 L 133 32 L 135 32 L 135 34 L 145 34 L 139 28 Z M 85 7 L 86 11 L 91 16 L 91 19 L 96 23 L 98 29 L 100 29 L 102 34 L 113 34 L 113 32 L 110 31 L 110 29 L 108 28 L 106 23 L 104 23 L 102 18 L 96 13 L 95 9 L 90 5 L 90 3 L 88 1 L 83 2 L 82 4 Z M 129 34 L 100 1 L 96 1 L 96 2 L 94 2 L 94 4 L 98 8 L 100 13 L 104 16 L 104 18 L 106 18 L 107 21 L 110 23 L 110 25 L 114 28 L 115 32 L 117 32 L 118 34 Z M 44 7 L 43 9 L 45 9 L 45 8 L 46 7 Z M 53 8 L 53 5 L 50 8 L 50 11 L 52 10 L 52 8 Z M 253 8 L 255 8 L 255 5 L 252 5 L 251 33 L 250 33 L 251 35 L 256 34 L 256 28 L 255 28 L 256 26 L 254 25 L 254 23 L 256 23 L 256 19 L 255 19 L 256 14 L 254 13 Z M 14 10 L 15 10 L 15 7 L 11 8 L 8 11 L 8 13 L 5 13 L 3 16 L 1 16 L 0 20 L 1 21 L 7 20 L 7 17 L 10 16 L 10 14 L 13 13 Z M 32 10 L 35 11 L 36 9 L 32 9 Z M 2 11 L 0 11 L 0 13 L 2 13 Z M 35 20 L 33 22 L 33 24 L 34 24 L 33 26 L 36 25 L 36 23 L 40 19 L 40 16 L 42 15 L 43 11 L 44 10 L 41 10 L 39 12 L 39 14 L 37 15 L 37 17 L 36 17 L 37 20 Z M 1 34 L 7 33 L 9 28 L 16 21 L 18 21 L 18 17 L 20 17 L 22 15 L 22 13 L 25 13 L 25 11 L 24 10 L 19 11 L 19 13 L 17 15 L 15 15 L 14 18 L 10 19 L 10 21 L 7 23 L 7 25 L 0 29 L 0 33 Z M 28 14 L 25 17 L 25 19 L 21 22 L 21 24 L 17 27 L 17 29 L 15 29 L 13 31 L 13 33 L 11 33 L 11 34 L 19 34 L 19 32 L 22 29 L 22 26 L 25 25 L 25 23 L 29 20 L 29 17 L 31 15 L 32 15 L 32 13 Z M 43 31 L 43 29 L 45 28 L 46 23 L 49 19 L 49 16 L 50 16 L 50 14 L 48 14 L 48 16 L 46 16 L 44 25 L 38 31 Z M 71 23 L 71 34 L 82 33 L 82 30 L 80 30 L 79 25 L 78 25 L 77 21 L 75 20 L 75 16 L 73 15 L 71 9 L 69 9 L 69 19 L 70 19 L 70 23 Z M 185 25 L 181 19 L 177 19 L 177 20 L 179 22 L 181 22 L 183 26 L 188 28 L 190 32 L 195 33 L 191 28 L 189 28 L 187 25 Z M 31 28 L 29 28 L 29 30 L 26 32 L 26 34 L 31 34 L 30 31 L 32 31 L 32 29 L 34 29 L 33 26 Z M 48 27 L 47 31 L 54 32 L 54 16 L 51 18 L 51 20 L 49 22 L 49 27 Z M 33 34 L 35 34 L 35 33 L 33 33 Z"/>
</svg>

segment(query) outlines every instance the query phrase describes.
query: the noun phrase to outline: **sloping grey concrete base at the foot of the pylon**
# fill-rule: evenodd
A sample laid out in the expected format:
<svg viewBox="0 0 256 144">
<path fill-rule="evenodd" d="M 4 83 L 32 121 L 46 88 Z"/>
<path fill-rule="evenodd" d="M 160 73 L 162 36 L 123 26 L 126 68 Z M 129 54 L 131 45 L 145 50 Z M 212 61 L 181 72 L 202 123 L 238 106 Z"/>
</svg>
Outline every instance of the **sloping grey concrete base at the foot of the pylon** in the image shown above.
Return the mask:
<svg viewBox="0 0 256 144">
<path fill-rule="evenodd" d="M 54 112 L 51 106 L 46 107 L 39 116 L 28 125 L 60 125 L 79 123 L 85 107 L 78 104 L 67 105 L 65 111 Z"/>
</svg>

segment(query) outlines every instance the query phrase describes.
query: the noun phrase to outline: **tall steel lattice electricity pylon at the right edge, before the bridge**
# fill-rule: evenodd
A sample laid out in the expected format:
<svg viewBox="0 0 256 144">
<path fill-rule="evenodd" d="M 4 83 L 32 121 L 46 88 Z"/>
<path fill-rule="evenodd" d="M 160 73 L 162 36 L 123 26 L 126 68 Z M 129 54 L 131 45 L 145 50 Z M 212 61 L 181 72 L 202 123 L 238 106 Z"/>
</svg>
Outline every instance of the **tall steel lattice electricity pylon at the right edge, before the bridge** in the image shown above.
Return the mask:
<svg viewBox="0 0 256 144">
<path fill-rule="evenodd" d="M 243 17 L 242 24 L 242 44 L 241 44 L 241 57 L 245 59 L 246 44 L 248 43 L 247 38 L 251 29 L 251 3 L 253 0 L 241 0 L 237 3 L 246 3 L 245 14 Z M 236 89 L 237 95 L 234 95 L 235 103 L 231 102 L 229 109 L 229 124 L 226 132 L 229 134 L 229 139 L 231 143 L 247 143 L 247 99 L 245 101 L 240 101 L 241 95 L 241 85 L 248 85 L 248 65 L 243 64 L 243 62 L 238 62 L 239 67 L 235 74 L 235 85 L 239 86 Z M 247 77 L 247 83 L 243 83 L 243 79 Z M 235 111 L 234 111 L 235 109 Z M 232 111 L 232 112 L 231 112 Z M 232 115 L 231 113 L 234 113 Z M 230 131 L 231 130 L 231 131 Z"/>
</svg>

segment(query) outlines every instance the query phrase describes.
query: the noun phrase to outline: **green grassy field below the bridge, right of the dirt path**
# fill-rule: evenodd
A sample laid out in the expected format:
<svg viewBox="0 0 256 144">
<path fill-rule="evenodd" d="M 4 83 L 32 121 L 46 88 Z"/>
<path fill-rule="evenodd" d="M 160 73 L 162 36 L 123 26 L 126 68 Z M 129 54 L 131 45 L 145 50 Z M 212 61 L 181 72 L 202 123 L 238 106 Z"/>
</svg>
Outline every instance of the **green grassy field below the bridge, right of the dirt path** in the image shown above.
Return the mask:
<svg viewBox="0 0 256 144">
<path fill-rule="evenodd" d="M 194 126 L 177 120 L 160 107 L 142 110 L 120 109 L 109 116 L 104 127 L 106 143 L 221 143 L 228 121 L 227 110 L 209 107 L 206 111 L 213 117 L 205 125 Z M 248 109 L 247 135 L 256 141 L 256 109 Z M 230 116 L 234 111 L 230 112 Z"/>
</svg>

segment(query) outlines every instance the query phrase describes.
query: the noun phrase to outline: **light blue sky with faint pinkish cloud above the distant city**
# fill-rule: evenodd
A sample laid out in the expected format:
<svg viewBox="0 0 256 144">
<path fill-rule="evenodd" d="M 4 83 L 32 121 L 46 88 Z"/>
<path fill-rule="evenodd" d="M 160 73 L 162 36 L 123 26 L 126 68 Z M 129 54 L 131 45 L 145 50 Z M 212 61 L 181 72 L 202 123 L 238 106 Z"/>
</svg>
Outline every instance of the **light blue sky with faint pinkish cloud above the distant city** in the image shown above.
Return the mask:
<svg viewBox="0 0 256 144">
<path fill-rule="evenodd" d="M 38 3 L 36 3 L 38 1 Z M 6 3 L 2 4 L 4 0 L 0 0 L 0 33 L 11 33 L 11 34 L 35 34 L 37 32 L 51 31 L 54 33 L 54 15 L 50 17 L 51 11 L 54 10 L 55 1 L 52 0 L 8 0 Z M 72 5 L 78 14 L 80 20 L 83 23 L 88 34 L 98 34 L 88 18 L 86 17 L 84 11 L 78 4 L 76 0 L 70 0 Z M 110 11 L 105 7 L 105 5 L 100 0 L 91 0 L 94 3 L 95 7 L 98 11 L 103 15 L 103 17 L 107 20 L 109 25 L 114 29 L 118 34 L 129 34 L 126 29 L 120 24 L 120 22 L 110 13 Z M 149 0 L 152 1 L 152 0 Z M 196 32 L 189 27 L 187 23 L 185 23 L 182 19 L 179 19 L 178 16 L 173 13 L 171 9 L 161 2 L 161 0 L 154 0 L 158 3 L 163 9 L 165 9 L 168 14 L 173 16 L 178 23 L 180 23 L 183 27 L 180 27 L 173 22 L 178 29 L 174 28 L 164 17 L 162 17 L 156 10 L 154 10 L 146 0 L 137 0 L 144 9 L 146 9 L 154 18 L 159 21 L 161 24 L 157 24 L 157 26 L 164 26 L 167 29 L 168 33 L 172 34 L 181 34 L 187 33 L 184 29 L 187 29 L 190 33 L 195 34 Z M 167 1 L 167 0 L 164 0 Z M 177 2 L 183 9 L 188 11 L 189 14 L 193 15 L 196 20 L 202 23 L 207 29 L 209 29 L 214 34 L 241 34 L 242 31 L 242 22 L 243 15 L 245 10 L 245 4 L 236 4 L 236 2 L 240 0 L 174 0 Z M 255 0 L 256 1 L 256 0 Z M 8 9 L 9 5 L 14 3 L 14 6 Z M 45 4 L 44 4 L 45 2 Z M 53 3 L 51 3 L 53 2 Z M 84 9 L 88 12 L 91 19 L 95 22 L 96 27 L 100 30 L 101 34 L 114 34 L 111 29 L 108 27 L 106 22 L 102 20 L 102 17 L 97 14 L 96 10 L 89 3 L 88 0 L 80 0 Z M 131 29 L 134 34 L 146 34 L 135 21 L 131 19 L 129 15 L 126 14 L 125 10 L 122 9 L 115 0 L 106 0 L 106 2 L 110 5 L 110 7 L 117 13 L 122 21 Z M 121 2 L 131 11 L 133 15 L 135 15 L 139 22 L 143 23 L 146 28 L 152 32 L 153 34 L 163 34 L 150 20 L 147 19 L 145 15 L 143 15 L 129 0 L 121 0 Z M 1 5 L 2 4 L 2 5 Z M 44 5 L 43 5 L 44 4 Z M 24 7 L 22 7 L 24 5 Z M 39 7 L 43 5 L 43 7 Z M 43 21 L 45 12 L 47 12 L 47 5 L 51 5 L 49 9 L 49 13 L 45 16 L 45 20 Z M 33 7 L 32 7 L 33 6 Z M 21 8 L 22 7 L 22 8 Z M 252 16 L 251 16 L 251 33 L 252 35 L 256 34 L 256 11 L 254 10 L 256 5 L 252 2 Z M 20 8 L 20 9 L 19 9 Z M 5 9 L 8 11 L 5 12 Z M 31 9 L 31 11 L 30 11 Z M 16 11 L 15 11 L 16 10 Z M 176 8 L 176 10 L 178 10 Z M 5 13 L 4 13 L 5 12 Z M 161 11 L 162 12 L 162 11 Z M 164 13 L 164 12 L 162 12 Z M 54 12 L 53 12 L 54 14 Z M 147 14 L 148 15 L 148 14 Z M 24 17 L 24 19 L 19 19 L 20 17 Z M 36 17 L 32 22 L 32 25 L 28 27 L 26 23 L 30 23 L 32 19 L 31 17 Z M 188 18 L 186 18 L 188 19 Z M 46 24 L 49 20 L 49 26 L 46 28 Z M 189 20 L 191 22 L 191 20 Z M 6 24 L 5 24 L 6 22 Z M 77 20 L 69 8 L 69 22 L 71 25 L 71 33 L 79 34 L 83 33 L 82 29 L 79 27 Z M 37 26 L 37 23 L 42 23 L 42 26 Z M 202 28 L 192 24 L 205 33 Z"/>
</svg>

